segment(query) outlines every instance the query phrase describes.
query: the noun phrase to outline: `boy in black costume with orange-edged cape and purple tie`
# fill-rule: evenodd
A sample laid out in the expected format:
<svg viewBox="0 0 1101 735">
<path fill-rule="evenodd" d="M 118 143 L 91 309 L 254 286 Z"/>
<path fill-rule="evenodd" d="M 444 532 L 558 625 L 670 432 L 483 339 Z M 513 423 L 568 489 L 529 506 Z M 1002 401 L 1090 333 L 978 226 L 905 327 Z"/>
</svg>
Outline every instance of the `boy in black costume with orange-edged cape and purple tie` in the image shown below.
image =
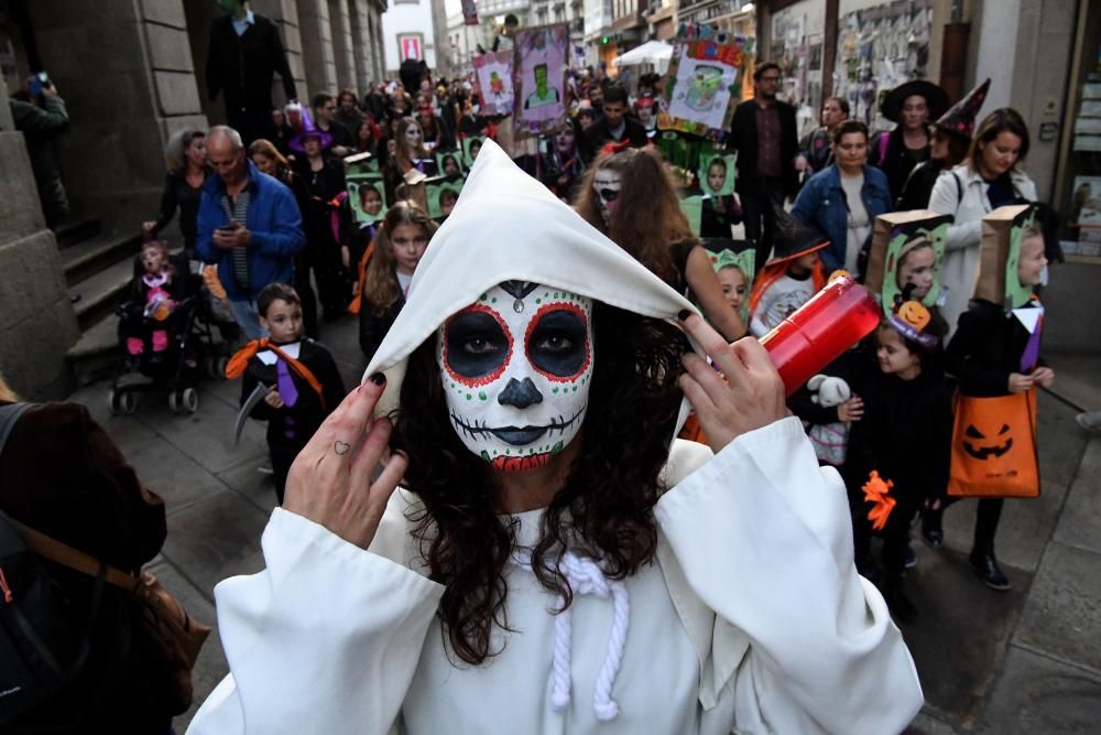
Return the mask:
<svg viewBox="0 0 1101 735">
<path fill-rule="evenodd" d="M 345 397 L 344 380 L 329 350 L 303 336 L 302 300 L 290 285 L 270 283 L 257 296 L 260 324 L 270 337 L 250 342 L 230 359 L 227 378 L 242 378 L 241 406 L 264 386 L 266 393 L 249 413 L 268 422 L 275 497 L 291 463 Z"/>
</svg>

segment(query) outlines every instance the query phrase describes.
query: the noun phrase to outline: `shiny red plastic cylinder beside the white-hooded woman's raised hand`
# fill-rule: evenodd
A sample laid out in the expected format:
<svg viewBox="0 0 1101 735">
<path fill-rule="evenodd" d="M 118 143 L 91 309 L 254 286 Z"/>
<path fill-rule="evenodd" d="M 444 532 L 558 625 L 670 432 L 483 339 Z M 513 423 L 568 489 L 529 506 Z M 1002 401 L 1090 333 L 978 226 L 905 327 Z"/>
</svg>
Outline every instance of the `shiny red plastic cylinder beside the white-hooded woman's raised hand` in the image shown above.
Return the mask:
<svg viewBox="0 0 1101 735">
<path fill-rule="evenodd" d="M 851 278 L 841 277 L 762 337 L 761 344 L 791 396 L 863 339 L 879 325 L 881 316 L 872 294 Z"/>
</svg>

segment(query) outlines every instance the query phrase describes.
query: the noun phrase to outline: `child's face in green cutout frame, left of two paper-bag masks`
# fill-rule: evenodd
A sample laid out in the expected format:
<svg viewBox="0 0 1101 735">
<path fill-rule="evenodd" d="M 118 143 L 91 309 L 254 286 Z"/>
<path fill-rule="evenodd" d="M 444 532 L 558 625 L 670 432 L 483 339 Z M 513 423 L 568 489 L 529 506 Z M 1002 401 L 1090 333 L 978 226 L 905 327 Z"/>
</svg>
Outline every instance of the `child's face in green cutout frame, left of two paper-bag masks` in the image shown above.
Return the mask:
<svg viewBox="0 0 1101 735">
<path fill-rule="evenodd" d="M 887 242 L 883 278 L 883 312 L 891 314 L 895 300 L 920 301 L 934 306 L 940 299 L 940 263 L 950 217 L 896 226 Z"/>
</svg>

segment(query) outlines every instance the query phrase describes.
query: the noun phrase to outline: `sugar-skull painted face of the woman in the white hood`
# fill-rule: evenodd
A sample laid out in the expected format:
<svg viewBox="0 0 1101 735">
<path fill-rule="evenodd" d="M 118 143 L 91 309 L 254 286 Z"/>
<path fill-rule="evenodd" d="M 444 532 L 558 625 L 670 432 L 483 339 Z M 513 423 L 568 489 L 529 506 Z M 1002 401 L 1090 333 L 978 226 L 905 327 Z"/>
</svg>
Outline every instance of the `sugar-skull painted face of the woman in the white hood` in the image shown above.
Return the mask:
<svg viewBox="0 0 1101 735">
<path fill-rule="evenodd" d="M 505 281 L 439 329 L 451 425 L 503 472 L 546 465 L 577 436 L 592 382 L 592 300 Z"/>
</svg>

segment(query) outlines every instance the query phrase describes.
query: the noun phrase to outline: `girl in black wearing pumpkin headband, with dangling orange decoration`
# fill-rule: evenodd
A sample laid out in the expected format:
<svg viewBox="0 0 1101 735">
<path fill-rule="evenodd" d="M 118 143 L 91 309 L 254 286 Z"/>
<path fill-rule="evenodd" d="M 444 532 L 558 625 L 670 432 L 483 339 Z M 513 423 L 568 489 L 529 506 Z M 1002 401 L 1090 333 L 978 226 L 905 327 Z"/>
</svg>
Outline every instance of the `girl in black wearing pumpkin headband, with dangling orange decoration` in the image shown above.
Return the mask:
<svg viewBox="0 0 1101 735">
<path fill-rule="evenodd" d="M 900 623 L 917 617 L 903 592 L 911 520 L 928 501 L 942 498 L 948 486 L 951 393 L 937 367 L 947 331 L 944 320 L 920 302 L 902 302 L 875 332 L 877 369 L 849 378 L 864 408 L 863 418 L 852 424 L 843 469 L 857 566 L 872 574 L 871 529 L 882 529 L 880 588 Z M 883 499 L 874 493 L 877 480 L 890 488 Z M 871 523 L 869 495 L 879 500 Z"/>
</svg>

